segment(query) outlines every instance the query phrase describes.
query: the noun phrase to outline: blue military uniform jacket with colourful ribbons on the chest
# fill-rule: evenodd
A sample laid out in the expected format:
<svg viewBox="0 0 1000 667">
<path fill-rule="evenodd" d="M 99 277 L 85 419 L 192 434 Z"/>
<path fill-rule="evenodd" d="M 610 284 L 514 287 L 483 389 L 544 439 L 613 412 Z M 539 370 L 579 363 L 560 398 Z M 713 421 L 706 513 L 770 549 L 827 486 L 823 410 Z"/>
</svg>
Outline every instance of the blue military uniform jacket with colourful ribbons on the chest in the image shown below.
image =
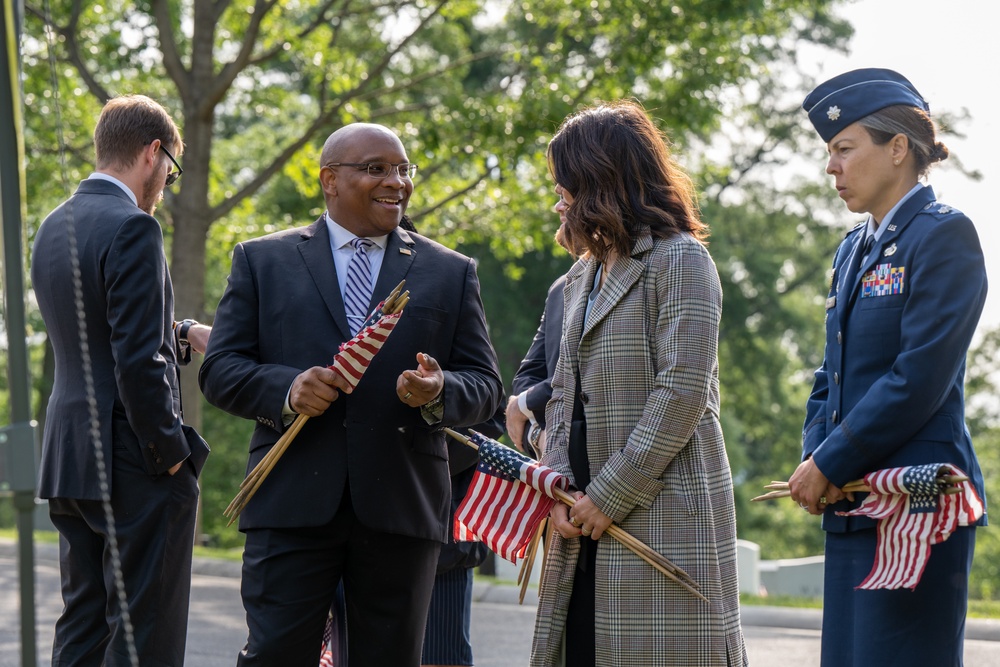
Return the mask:
<svg viewBox="0 0 1000 667">
<path fill-rule="evenodd" d="M 809 398 L 803 456 L 837 486 L 885 468 L 952 463 L 985 501 L 963 388 L 986 301 L 976 229 L 926 187 L 900 207 L 856 269 L 865 233 L 860 225 L 848 234 L 834 260 L 826 357 Z M 835 513 L 864 496 L 830 505 L 823 527 L 874 525 Z"/>
</svg>

